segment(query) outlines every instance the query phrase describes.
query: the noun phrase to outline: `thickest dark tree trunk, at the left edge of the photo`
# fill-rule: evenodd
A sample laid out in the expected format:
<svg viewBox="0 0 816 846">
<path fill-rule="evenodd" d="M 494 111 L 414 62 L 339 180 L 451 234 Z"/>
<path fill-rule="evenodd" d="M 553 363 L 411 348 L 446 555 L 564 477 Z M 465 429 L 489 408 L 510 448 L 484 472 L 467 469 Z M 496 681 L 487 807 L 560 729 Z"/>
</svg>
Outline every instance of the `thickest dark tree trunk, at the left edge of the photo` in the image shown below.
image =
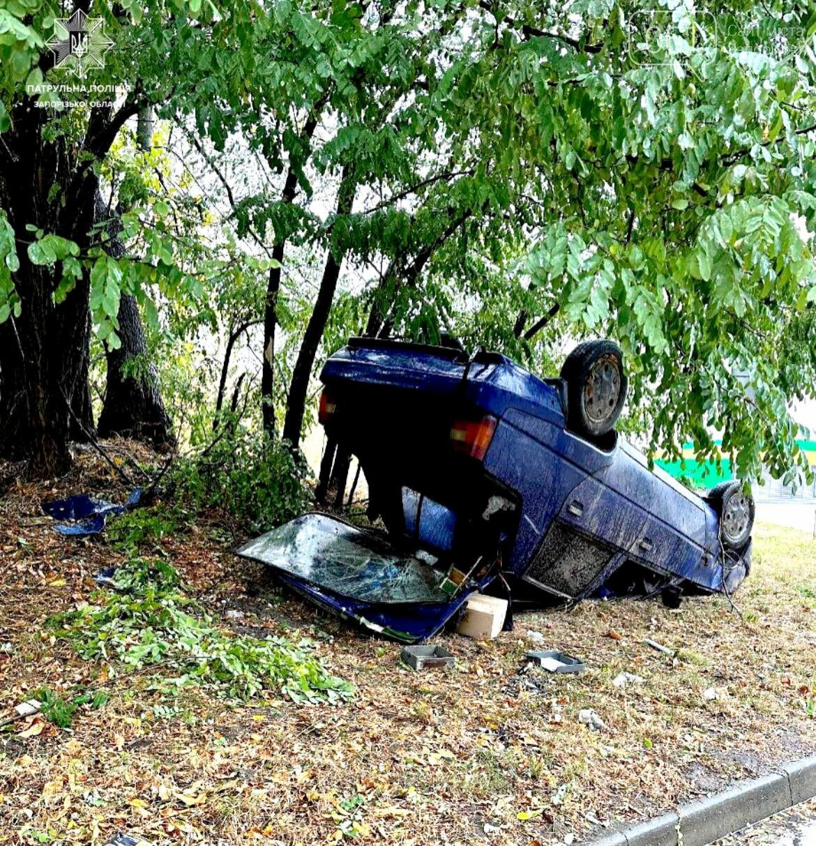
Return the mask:
<svg viewBox="0 0 816 846">
<path fill-rule="evenodd" d="M 85 275 L 62 303 L 54 302 L 62 267 L 30 261 L 26 226 L 34 224 L 87 250 L 97 186 L 90 165 L 105 155 L 129 107 L 115 116 L 107 109 L 91 110 L 83 144 L 88 155 L 82 160 L 62 136 L 47 139 L 47 112 L 22 98 L 14 107 L 14 129 L 3 134 L 0 149 L 0 207 L 20 239 L 19 269 L 12 274 L 20 314 L 0 325 L 0 454 L 28 459 L 32 478 L 62 475 L 71 464 L 68 409 L 85 360 L 90 291 Z"/>
</svg>

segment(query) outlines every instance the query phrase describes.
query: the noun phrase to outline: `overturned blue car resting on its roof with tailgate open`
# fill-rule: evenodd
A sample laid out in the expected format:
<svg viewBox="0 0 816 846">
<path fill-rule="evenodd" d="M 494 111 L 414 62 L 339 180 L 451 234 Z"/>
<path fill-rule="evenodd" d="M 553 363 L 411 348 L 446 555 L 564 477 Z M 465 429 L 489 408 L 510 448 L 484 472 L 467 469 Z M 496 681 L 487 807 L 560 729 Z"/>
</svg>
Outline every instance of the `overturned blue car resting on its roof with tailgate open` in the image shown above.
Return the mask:
<svg viewBox="0 0 816 846">
<path fill-rule="evenodd" d="M 238 551 L 320 607 L 416 642 L 474 591 L 517 608 L 679 601 L 748 575 L 753 499 L 736 481 L 700 497 L 618 436 L 611 341 L 540 379 L 501 354 L 352 338 L 320 379 L 320 422 L 337 461 L 359 459 L 371 527 L 305 514 Z"/>
</svg>

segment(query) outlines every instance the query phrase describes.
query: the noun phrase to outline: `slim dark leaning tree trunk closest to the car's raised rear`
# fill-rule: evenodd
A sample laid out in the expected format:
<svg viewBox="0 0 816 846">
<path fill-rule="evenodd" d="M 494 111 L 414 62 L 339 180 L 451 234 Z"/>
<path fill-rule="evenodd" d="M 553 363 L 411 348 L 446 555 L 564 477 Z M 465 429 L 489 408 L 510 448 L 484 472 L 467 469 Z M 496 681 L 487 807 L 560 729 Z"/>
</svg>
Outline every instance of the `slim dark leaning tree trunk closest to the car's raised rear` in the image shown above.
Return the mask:
<svg viewBox="0 0 816 846">
<path fill-rule="evenodd" d="M 340 188 L 337 191 L 337 215 L 346 215 L 351 211 L 356 188 L 357 186 L 347 165 L 342 170 Z M 335 288 L 337 288 L 337 278 L 340 276 L 342 255 L 342 251 L 335 255 L 330 247 L 329 255 L 326 257 L 326 265 L 323 268 L 323 278 L 320 280 L 320 289 L 315 300 L 315 308 L 309 317 L 309 324 L 306 327 L 303 343 L 301 343 L 298 352 L 298 360 L 295 362 L 292 371 L 286 419 L 283 421 L 283 438 L 290 442 L 294 449 L 297 449 L 300 445 L 300 430 L 303 428 L 306 397 L 309 393 L 309 379 L 312 375 L 312 366 L 315 364 L 317 349 L 323 338 L 323 330 L 326 328 L 326 321 L 329 319 L 331 303 L 334 300 Z"/>
</svg>

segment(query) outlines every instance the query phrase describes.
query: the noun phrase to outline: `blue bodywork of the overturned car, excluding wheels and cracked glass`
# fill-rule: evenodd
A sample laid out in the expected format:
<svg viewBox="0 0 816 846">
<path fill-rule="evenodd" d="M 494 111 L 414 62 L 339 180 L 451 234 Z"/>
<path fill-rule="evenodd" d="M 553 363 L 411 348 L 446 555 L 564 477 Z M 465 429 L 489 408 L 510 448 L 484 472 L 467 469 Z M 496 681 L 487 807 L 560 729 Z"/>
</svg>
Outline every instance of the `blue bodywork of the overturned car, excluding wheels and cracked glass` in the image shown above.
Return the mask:
<svg viewBox="0 0 816 846">
<path fill-rule="evenodd" d="M 700 591 L 731 592 L 748 573 L 750 545 L 724 569 L 719 518 L 704 497 L 649 470 L 615 433 L 594 443 L 567 428 L 559 379 L 539 379 L 500 354 L 468 359 L 453 349 L 373 339 L 350 341 L 320 378 L 337 407 L 326 430 L 358 456 L 372 503 L 390 503 L 380 513 L 390 515 L 392 532 L 468 572 L 450 602 L 408 603 L 397 612 L 274 565 L 321 607 L 401 640 L 423 640 L 500 575 L 515 596 L 526 585 L 539 596 L 577 600 L 611 584 L 624 565 L 659 584 Z M 452 451 L 450 426 L 463 415 L 495 419 L 479 462 Z M 476 573 L 494 541 L 496 565 Z"/>
</svg>

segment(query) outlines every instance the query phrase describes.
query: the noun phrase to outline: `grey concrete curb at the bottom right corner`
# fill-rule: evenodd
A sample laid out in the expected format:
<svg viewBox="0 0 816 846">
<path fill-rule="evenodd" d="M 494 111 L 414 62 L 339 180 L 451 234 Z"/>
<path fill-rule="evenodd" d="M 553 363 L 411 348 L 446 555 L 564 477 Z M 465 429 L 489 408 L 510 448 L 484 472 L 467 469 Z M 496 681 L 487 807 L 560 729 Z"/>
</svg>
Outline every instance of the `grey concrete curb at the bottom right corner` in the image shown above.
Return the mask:
<svg viewBox="0 0 816 846">
<path fill-rule="evenodd" d="M 613 827 L 589 841 L 589 846 L 707 846 L 813 796 L 816 755 L 789 761 L 768 776 L 737 783 L 723 793 L 681 805 L 652 820 Z"/>
</svg>

